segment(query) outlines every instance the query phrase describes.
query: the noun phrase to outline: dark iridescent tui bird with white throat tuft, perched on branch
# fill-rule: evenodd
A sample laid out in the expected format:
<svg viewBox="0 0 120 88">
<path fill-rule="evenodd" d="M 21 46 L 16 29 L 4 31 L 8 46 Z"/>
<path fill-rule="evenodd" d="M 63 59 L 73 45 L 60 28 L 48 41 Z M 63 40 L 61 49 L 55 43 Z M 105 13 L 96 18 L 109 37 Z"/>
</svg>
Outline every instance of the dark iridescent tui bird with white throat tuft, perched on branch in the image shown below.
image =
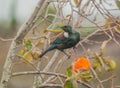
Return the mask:
<svg viewBox="0 0 120 88">
<path fill-rule="evenodd" d="M 58 36 L 39 57 L 44 56 L 48 51 L 58 49 L 68 56 L 64 49 L 74 47 L 80 41 L 80 33 L 73 30 L 70 25 L 61 27 L 64 30 L 63 35 Z"/>
</svg>

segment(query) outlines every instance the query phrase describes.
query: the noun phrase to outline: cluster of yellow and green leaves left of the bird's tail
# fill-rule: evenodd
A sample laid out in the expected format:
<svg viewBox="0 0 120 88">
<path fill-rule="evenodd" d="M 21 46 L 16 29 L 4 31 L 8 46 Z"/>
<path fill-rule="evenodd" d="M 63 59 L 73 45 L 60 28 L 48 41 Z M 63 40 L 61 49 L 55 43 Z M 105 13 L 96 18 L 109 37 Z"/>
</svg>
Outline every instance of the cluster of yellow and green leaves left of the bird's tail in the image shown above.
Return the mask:
<svg viewBox="0 0 120 88">
<path fill-rule="evenodd" d="M 35 47 L 37 48 L 41 44 L 43 44 L 42 40 L 38 41 L 33 49 L 32 41 L 29 39 L 24 40 L 24 49 L 21 49 L 19 51 L 19 55 L 21 57 L 20 60 L 25 64 L 33 63 L 33 60 L 37 60 L 39 58 L 39 55 L 41 54 L 41 51 L 35 50 Z"/>
</svg>

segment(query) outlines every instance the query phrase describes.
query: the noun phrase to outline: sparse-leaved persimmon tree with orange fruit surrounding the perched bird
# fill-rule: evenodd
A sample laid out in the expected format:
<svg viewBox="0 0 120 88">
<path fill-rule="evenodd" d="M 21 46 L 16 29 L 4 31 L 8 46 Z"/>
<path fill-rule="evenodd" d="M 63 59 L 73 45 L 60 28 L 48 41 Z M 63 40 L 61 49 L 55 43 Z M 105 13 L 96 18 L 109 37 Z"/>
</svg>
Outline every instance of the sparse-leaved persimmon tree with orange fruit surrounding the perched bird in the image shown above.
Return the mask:
<svg viewBox="0 0 120 88">
<path fill-rule="evenodd" d="M 119 87 L 114 84 L 115 74 L 101 78 L 102 72 L 111 73 L 117 66 L 112 56 L 105 54 L 110 42 L 120 48 L 120 19 L 110 12 L 119 11 L 120 1 L 115 3 L 107 0 L 40 0 L 12 39 L 0 87 L 7 88 L 12 77 L 21 75 L 34 75 L 33 88 L 79 88 L 81 85 L 84 88 L 106 88 L 104 84 L 109 81 L 108 88 Z M 58 29 L 61 24 L 69 24 L 81 33 L 76 49 L 66 50 L 71 58 L 58 50 L 39 58 L 50 41 L 59 35 L 60 31 L 51 29 Z M 99 36 L 103 36 L 102 39 L 94 39 Z M 97 51 L 88 49 L 96 45 Z M 34 70 L 13 72 L 18 63 L 30 65 Z"/>
</svg>

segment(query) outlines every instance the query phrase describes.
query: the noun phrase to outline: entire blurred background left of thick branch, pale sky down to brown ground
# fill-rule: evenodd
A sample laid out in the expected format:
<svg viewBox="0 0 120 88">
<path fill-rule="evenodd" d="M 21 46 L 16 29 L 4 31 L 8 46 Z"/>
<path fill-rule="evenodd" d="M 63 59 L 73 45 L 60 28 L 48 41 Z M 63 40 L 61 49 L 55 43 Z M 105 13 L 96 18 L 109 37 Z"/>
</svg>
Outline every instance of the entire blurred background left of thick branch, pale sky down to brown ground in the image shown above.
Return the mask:
<svg viewBox="0 0 120 88">
<path fill-rule="evenodd" d="M 13 38 L 19 27 L 31 15 L 37 2 L 38 0 L 0 0 L 0 37 L 4 39 Z M 0 40 L 0 79 L 10 44 L 11 41 L 3 42 Z M 9 87 L 22 88 L 19 85 Z"/>
</svg>

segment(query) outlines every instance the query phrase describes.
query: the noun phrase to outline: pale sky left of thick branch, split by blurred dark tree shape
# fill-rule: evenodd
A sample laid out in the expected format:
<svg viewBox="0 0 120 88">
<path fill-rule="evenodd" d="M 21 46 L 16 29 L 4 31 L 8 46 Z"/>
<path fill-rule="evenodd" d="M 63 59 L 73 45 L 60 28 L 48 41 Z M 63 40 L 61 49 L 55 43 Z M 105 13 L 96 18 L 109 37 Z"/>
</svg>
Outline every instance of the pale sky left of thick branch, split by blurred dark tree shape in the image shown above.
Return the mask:
<svg viewBox="0 0 120 88">
<path fill-rule="evenodd" d="M 9 19 L 12 0 L 0 0 L 0 20 Z M 17 0 L 17 18 L 26 19 L 33 12 L 38 0 Z"/>
</svg>

